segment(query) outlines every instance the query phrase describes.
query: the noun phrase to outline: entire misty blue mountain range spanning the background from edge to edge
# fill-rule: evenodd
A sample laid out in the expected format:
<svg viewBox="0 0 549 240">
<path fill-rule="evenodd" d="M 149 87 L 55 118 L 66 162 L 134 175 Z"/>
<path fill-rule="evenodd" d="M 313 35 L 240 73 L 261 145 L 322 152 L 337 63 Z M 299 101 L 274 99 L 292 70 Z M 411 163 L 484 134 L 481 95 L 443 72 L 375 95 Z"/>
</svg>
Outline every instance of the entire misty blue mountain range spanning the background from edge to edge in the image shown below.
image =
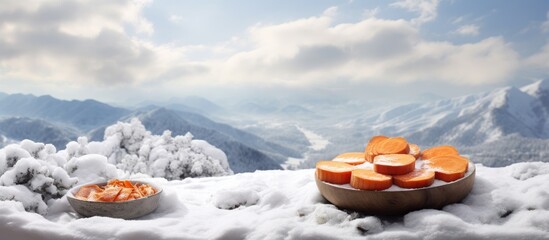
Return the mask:
<svg viewBox="0 0 549 240">
<path fill-rule="evenodd" d="M 549 157 L 547 80 L 389 107 L 276 101 L 220 106 L 194 96 L 129 109 L 95 100 L 0 93 L 0 116 L 0 144 L 28 138 L 58 149 L 77 136 L 102 140 L 106 126 L 137 117 L 153 134 L 191 132 L 217 146 L 237 173 L 280 169 L 288 159 L 298 160 L 293 167 L 311 167 L 341 152 L 362 151 L 378 134 L 404 136 L 423 148 L 456 145 L 489 166 Z"/>
</svg>

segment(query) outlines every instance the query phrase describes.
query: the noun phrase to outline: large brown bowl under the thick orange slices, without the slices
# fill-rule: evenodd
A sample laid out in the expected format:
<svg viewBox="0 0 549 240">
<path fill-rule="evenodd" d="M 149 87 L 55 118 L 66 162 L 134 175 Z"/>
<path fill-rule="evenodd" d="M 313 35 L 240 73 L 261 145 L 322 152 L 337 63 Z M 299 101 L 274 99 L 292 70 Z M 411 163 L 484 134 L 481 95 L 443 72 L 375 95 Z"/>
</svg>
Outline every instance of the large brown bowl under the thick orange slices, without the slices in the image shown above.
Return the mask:
<svg viewBox="0 0 549 240">
<path fill-rule="evenodd" d="M 440 209 L 448 204 L 463 200 L 475 183 L 475 165 L 469 162 L 465 176 L 453 182 L 435 180 L 429 187 L 404 189 L 393 185 L 383 191 L 367 191 L 352 188 L 349 184 L 332 184 L 316 177 L 318 190 L 332 204 L 339 208 L 372 215 L 403 215 L 424 209 Z"/>
</svg>

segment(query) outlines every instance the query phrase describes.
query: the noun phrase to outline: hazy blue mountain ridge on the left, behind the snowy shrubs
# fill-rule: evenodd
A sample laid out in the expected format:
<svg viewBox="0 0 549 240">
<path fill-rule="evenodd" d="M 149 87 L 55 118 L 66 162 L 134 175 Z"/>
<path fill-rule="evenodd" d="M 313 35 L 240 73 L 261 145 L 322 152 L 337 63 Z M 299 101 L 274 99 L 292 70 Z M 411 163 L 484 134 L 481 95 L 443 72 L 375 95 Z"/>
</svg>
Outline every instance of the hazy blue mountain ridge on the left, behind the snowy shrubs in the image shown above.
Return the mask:
<svg viewBox="0 0 549 240">
<path fill-rule="evenodd" d="M 215 108 L 213 103 L 194 99 L 197 104 Z M 221 109 L 217 109 L 221 111 Z M 91 140 L 103 139 L 107 126 L 138 117 L 153 134 L 170 130 L 182 135 L 191 132 L 196 139 L 206 140 L 225 151 L 234 172 L 281 169 L 288 156 L 300 153 L 267 142 L 251 133 L 214 122 L 198 113 L 148 106 L 135 111 L 112 107 L 95 100 L 59 100 L 51 96 L 0 94 L 0 135 L 9 139 L 31 139 L 53 143 L 57 148 L 88 135 Z"/>
</svg>

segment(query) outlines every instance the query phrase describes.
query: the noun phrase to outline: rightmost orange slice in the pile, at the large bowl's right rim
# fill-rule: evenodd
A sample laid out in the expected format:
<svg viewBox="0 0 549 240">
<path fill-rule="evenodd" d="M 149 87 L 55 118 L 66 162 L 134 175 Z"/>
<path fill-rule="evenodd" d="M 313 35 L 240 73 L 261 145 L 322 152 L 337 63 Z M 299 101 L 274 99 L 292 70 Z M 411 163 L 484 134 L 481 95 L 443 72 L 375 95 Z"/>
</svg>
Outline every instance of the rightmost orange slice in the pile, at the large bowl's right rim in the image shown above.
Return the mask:
<svg viewBox="0 0 549 240">
<path fill-rule="evenodd" d="M 435 178 L 452 182 L 465 176 L 469 167 L 469 160 L 462 156 L 445 155 L 426 160 L 426 168 L 435 171 Z"/>
</svg>

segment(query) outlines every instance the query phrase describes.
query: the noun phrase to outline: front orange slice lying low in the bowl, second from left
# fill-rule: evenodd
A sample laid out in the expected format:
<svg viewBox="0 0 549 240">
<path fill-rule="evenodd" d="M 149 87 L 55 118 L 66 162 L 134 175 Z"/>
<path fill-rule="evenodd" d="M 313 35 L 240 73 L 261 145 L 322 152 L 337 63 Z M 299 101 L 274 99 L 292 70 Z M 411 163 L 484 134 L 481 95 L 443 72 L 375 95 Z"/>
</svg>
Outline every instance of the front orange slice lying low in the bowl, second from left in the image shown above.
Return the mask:
<svg viewBox="0 0 549 240">
<path fill-rule="evenodd" d="M 361 190 L 384 190 L 393 185 L 391 176 L 370 169 L 355 169 L 351 173 L 351 186 Z"/>
</svg>

